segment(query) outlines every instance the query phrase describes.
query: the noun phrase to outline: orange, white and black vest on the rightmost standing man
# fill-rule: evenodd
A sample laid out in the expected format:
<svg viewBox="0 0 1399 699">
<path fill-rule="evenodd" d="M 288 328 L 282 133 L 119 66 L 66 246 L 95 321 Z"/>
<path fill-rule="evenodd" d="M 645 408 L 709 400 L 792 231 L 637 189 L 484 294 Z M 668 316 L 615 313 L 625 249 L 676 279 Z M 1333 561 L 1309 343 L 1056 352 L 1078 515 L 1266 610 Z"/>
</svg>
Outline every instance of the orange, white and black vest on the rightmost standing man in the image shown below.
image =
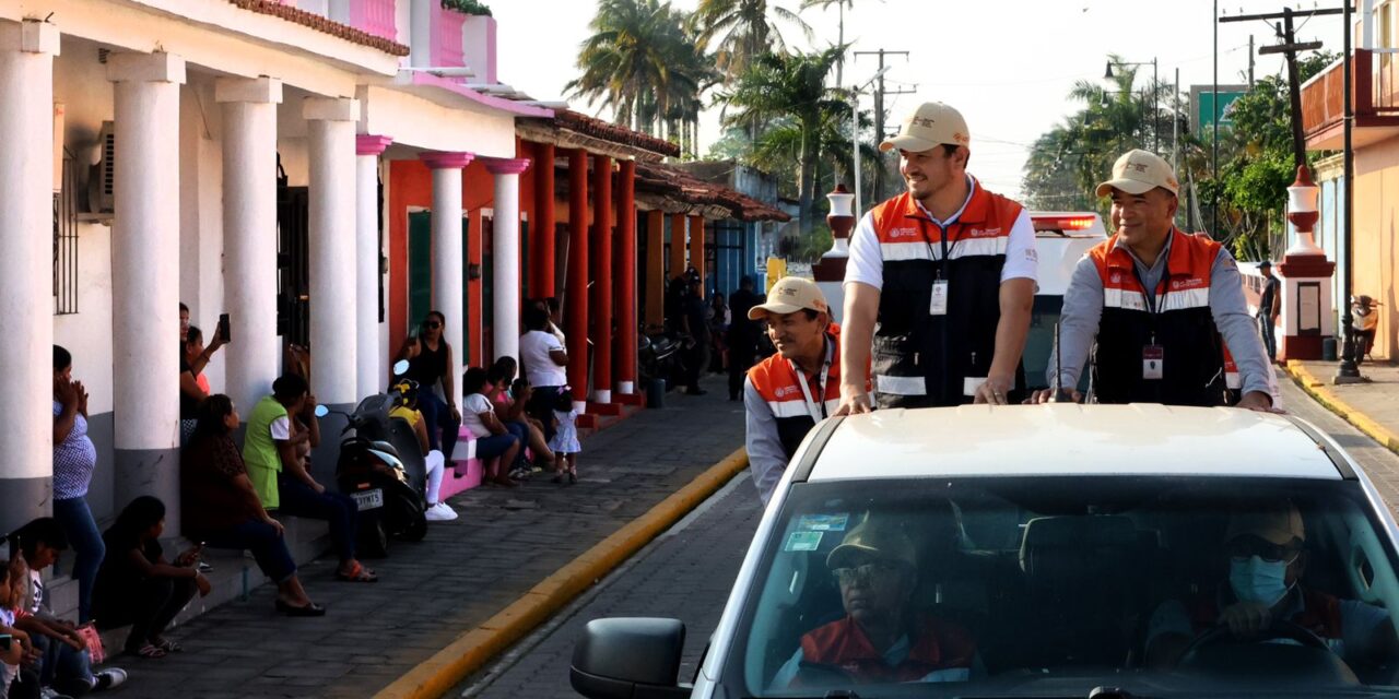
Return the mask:
<svg viewBox="0 0 1399 699">
<path fill-rule="evenodd" d="M 1118 236 L 1088 250 L 1102 281 L 1102 319 L 1093 351 L 1098 403 L 1223 405 L 1224 343 L 1210 315 L 1210 273 L 1220 245 L 1171 229 L 1165 274 L 1142 288 Z M 1161 377 L 1149 379 L 1146 348 L 1161 351 Z"/>
</svg>

